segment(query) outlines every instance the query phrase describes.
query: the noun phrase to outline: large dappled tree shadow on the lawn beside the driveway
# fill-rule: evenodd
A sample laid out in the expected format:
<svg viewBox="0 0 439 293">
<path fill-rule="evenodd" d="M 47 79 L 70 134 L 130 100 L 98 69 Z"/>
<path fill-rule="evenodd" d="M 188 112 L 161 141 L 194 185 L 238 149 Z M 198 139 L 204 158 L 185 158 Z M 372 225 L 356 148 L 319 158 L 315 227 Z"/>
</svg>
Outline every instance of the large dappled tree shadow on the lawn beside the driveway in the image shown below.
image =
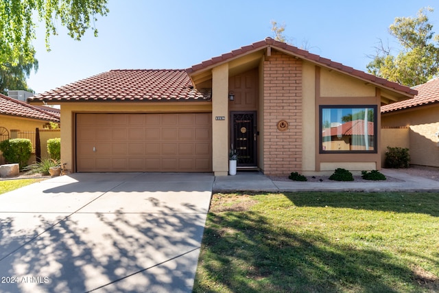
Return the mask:
<svg viewBox="0 0 439 293">
<path fill-rule="evenodd" d="M 386 253 L 273 227 L 260 213 L 209 213 L 208 223 L 194 292 L 222 292 L 216 286 L 226 292 L 402 292 L 401 284 L 411 292 L 439 289 L 437 281 L 416 284 L 416 273 Z"/>
</svg>

